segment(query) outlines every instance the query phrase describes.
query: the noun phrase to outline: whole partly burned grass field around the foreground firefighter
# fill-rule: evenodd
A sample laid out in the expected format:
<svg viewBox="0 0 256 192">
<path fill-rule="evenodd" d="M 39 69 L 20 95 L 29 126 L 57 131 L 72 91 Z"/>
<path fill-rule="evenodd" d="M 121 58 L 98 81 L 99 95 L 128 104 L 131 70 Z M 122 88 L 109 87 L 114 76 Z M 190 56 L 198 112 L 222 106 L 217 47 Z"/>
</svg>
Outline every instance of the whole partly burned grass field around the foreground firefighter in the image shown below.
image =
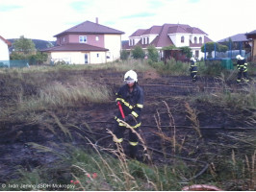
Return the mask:
<svg viewBox="0 0 256 192">
<path fill-rule="evenodd" d="M 237 85 L 199 77 L 193 84 L 190 76 L 139 72 L 144 161 L 134 162 L 111 153 L 114 93 L 123 74 L 111 69 L 1 73 L 0 183 L 80 180 L 73 190 L 180 190 L 199 183 L 255 190 L 253 80 Z M 83 153 L 87 157 L 81 158 Z M 109 158 L 121 163 L 121 171 L 105 170 Z M 98 178 L 87 177 L 90 172 Z"/>
</svg>

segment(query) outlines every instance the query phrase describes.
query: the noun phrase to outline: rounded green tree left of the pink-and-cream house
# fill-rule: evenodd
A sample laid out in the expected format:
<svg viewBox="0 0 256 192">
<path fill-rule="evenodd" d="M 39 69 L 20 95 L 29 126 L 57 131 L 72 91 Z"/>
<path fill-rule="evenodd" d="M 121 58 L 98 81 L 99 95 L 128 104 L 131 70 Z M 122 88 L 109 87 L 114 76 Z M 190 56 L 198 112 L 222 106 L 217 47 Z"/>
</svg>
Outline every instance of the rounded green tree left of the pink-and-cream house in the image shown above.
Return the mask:
<svg viewBox="0 0 256 192">
<path fill-rule="evenodd" d="M 32 54 L 36 51 L 35 43 L 32 39 L 20 36 L 13 42 L 14 52 L 23 53 L 25 55 Z"/>
</svg>

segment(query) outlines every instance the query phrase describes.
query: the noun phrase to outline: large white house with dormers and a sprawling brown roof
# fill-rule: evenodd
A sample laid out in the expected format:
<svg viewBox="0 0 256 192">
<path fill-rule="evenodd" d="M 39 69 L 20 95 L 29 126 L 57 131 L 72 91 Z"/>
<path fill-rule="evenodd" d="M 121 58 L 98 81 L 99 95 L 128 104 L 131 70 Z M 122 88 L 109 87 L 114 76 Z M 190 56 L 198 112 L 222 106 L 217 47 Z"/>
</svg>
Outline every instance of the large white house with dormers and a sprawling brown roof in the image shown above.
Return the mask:
<svg viewBox="0 0 256 192">
<path fill-rule="evenodd" d="M 146 49 L 154 45 L 160 53 L 164 47 L 175 46 L 191 47 L 195 58 L 202 58 L 201 46 L 212 41 L 202 30 L 184 24 L 164 24 L 163 26 L 152 26 L 149 29 L 140 29 L 129 36 L 129 41 L 123 44 L 122 49 L 130 51 L 136 45 Z"/>
</svg>

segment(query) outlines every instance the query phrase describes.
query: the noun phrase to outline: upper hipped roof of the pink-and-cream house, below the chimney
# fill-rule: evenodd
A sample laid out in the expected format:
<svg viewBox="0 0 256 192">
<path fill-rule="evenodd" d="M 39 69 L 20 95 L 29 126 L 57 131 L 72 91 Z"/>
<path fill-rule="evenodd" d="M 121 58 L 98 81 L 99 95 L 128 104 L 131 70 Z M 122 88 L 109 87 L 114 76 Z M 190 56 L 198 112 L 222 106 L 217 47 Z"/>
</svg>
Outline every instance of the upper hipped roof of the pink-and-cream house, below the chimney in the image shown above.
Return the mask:
<svg viewBox="0 0 256 192">
<path fill-rule="evenodd" d="M 63 36 L 65 34 L 124 34 L 124 32 L 115 30 L 104 25 L 93 23 L 90 21 L 85 21 L 79 25 L 76 25 L 68 30 L 65 30 L 57 36 Z"/>
</svg>

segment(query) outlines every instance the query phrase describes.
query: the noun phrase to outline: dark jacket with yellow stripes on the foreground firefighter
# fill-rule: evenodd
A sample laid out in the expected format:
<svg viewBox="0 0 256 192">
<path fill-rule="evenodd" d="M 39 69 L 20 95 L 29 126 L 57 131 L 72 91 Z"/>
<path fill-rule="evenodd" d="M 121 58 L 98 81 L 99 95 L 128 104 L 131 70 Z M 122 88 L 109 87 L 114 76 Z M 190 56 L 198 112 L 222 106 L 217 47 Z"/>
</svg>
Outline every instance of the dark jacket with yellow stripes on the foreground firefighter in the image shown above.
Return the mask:
<svg viewBox="0 0 256 192">
<path fill-rule="evenodd" d="M 133 128 L 138 128 L 141 126 L 141 110 L 143 108 L 144 95 L 141 86 L 135 84 L 133 91 L 129 92 L 128 84 L 124 84 L 115 93 L 115 102 L 120 102 L 125 116 L 132 115 L 133 123 L 131 126 Z M 115 120 L 119 123 L 119 120 L 123 120 L 120 112 L 117 113 Z M 122 123 L 118 124 L 123 126 Z"/>
</svg>

